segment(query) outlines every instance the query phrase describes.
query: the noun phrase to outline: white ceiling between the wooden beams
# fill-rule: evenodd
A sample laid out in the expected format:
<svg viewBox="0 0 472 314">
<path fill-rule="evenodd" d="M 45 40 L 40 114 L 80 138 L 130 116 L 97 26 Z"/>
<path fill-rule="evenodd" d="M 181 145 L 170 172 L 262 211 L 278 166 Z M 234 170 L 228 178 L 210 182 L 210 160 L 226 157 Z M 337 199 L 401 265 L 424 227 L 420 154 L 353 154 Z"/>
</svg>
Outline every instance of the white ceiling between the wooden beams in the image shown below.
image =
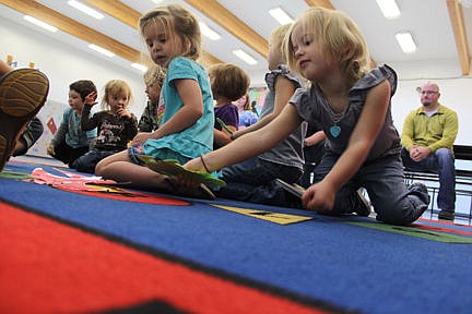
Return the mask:
<svg viewBox="0 0 472 314">
<path fill-rule="evenodd" d="M 447 9 L 447 1 L 450 0 L 397 0 L 402 11 L 402 15 L 397 20 L 385 19 L 375 0 L 331 0 L 331 4 L 335 9 L 346 12 L 357 23 L 366 38 L 373 59 L 376 62 L 391 64 L 421 61 L 422 64 L 430 64 L 430 67 L 434 67 L 435 62 L 450 60 L 452 61 L 450 63 L 452 64 L 451 67 L 457 67 L 457 69 L 451 70 L 462 74 L 451 21 Z M 38 0 L 37 2 L 137 50 L 142 50 L 143 48 L 135 28 L 109 15 L 98 21 L 68 5 L 66 0 Z M 156 5 L 151 0 L 123 0 L 121 2 L 141 13 Z M 243 41 L 232 36 L 226 29 L 219 25 L 219 21 L 209 20 L 185 1 L 163 1 L 163 3 L 169 2 L 177 2 L 190 9 L 198 19 L 205 22 L 210 27 L 222 35 L 222 39 L 217 41 L 203 38 L 203 49 L 206 52 L 219 58 L 223 62 L 231 62 L 243 67 L 249 72 L 253 84 L 262 83 L 263 73 L 267 71 L 266 57 L 260 56 Z M 219 2 L 266 39 L 268 39 L 270 33 L 278 27 L 278 23 L 268 13 L 270 9 L 282 7 L 288 14 L 296 17 L 308 8 L 308 4 L 304 0 L 220 0 Z M 472 8 L 463 7 L 463 15 L 469 40 L 469 50 L 472 51 Z M 0 16 L 27 25 L 27 27 L 36 27 L 25 22 L 22 19 L 22 13 L 3 4 L 0 4 Z M 394 34 L 401 31 L 409 31 L 412 33 L 418 46 L 415 53 L 405 55 L 401 51 L 394 39 Z M 50 34 L 50 36 L 56 36 L 64 44 L 71 45 L 71 47 L 75 49 L 81 49 L 86 53 L 97 53 L 86 48 L 87 45 L 85 44 L 87 43 L 73 38 L 66 33 Z M 99 45 L 99 43 L 95 44 Z M 248 65 L 240 61 L 232 52 L 236 48 L 243 48 L 249 52 L 258 60 L 258 64 Z M 107 57 L 103 58 L 108 60 Z M 115 57 L 113 61 L 108 60 L 108 62 L 129 69 L 130 62 L 128 60 L 119 57 Z"/>
</svg>

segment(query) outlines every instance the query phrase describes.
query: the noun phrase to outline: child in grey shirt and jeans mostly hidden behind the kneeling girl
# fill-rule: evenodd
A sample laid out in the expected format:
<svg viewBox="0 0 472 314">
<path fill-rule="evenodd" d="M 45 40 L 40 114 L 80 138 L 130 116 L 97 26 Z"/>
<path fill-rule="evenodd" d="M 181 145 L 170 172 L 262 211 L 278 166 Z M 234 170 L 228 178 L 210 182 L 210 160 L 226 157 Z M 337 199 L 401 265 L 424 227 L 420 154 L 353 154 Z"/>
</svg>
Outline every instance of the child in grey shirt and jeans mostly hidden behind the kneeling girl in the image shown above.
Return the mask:
<svg viewBox="0 0 472 314">
<path fill-rule="evenodd" d="M 285 65 L 286 62 L 282 56 L 282 43 L 288 28 L 290 25 L 278 27 L 269 39 L 269 73 L 266 75 L 269 90 L 266 95 L 260 119 L 257 123 L 234 132 L 232 138 L 237 138 L 234 142 L 240 142 L 239 138 L 243 141 L 243 138 L 251 137 L 252 135 L 249 134 L 253 134 L 276 119 L 283 108 L 287 106 L 287 101 L 295 89 L 303 86 L 302 80 Z M 237 162 L 231 164 L 223 162 L 222 167 L 214 168 L 222 168 L 221 179 L 226 182 L 226 186 L 214 191 L 214 193 L 221 197 L 245 202 L 290 205 L 290 200 L 284 197 L 284 191 L 274 180 L 280 178 L 285 182 L 294 183 L 302 176 L 304 130 L 302 126 L 295 128 L 291 134 L 281 140 L 274 147 L 261 150 L 259 154 L 249 156 L 243 152 L 235 153 L 236 156 L 243 153 L 250 158 L 240 158 Z M 246 142 L 243 141 L 243 143 Z M 232 143 L 228 145 L 233 146 Z M 217 150 L 226 152 L 226 146 Z M 239 146 L 239 149 L 251 152 L 252 144 L 247 147 Z M 225 153 L 222 154 L 226 155 Z M 189 165 L 194 165 L 193 162 L 194 160 Z M 200 166 L 201 162 L 200 160 Z M 227 167 L 223 168 L 223 166 Z"/>
</svg>

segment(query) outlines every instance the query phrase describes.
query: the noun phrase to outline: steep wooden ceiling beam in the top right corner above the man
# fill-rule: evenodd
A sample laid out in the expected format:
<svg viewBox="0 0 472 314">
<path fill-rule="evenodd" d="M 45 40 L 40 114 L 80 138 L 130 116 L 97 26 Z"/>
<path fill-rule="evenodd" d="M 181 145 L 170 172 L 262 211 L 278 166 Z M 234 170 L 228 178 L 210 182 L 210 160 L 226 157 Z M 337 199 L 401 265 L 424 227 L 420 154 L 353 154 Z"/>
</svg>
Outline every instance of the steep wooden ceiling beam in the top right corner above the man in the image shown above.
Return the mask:
<svg viewBox="0 0 472 314">
<path fill-rule="evenodd" d="M 465 24 L 463 19 L 462 5 L 458 0 L 446 0 L 449 11 L 449 17 L 455 34 L 456 47 L 459 55 L 459 61 L 463 75 L 470 73 L 470 51 L 465 34 Z"/>
</svg>

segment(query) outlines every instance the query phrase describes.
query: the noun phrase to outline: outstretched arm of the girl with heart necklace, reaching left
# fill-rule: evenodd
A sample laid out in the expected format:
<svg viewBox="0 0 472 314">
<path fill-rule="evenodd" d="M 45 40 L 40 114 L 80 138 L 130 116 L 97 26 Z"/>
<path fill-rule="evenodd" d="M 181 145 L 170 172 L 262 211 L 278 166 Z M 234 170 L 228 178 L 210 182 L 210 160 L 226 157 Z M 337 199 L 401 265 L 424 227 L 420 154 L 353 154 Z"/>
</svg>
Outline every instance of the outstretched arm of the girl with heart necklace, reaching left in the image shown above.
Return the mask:
<svg viewBox="0 0 472 314">
<path fill-rule="evenodd" d="M 284 110 L 264 128 L 245 134 L 202 158 L 194 158 L 184 165 L 184 168 L 210 172 L 255 157 L 274 147 L 281 140 L 294 132 L 302 122 L 295 106 L 285 106 Z"/>
</svg>

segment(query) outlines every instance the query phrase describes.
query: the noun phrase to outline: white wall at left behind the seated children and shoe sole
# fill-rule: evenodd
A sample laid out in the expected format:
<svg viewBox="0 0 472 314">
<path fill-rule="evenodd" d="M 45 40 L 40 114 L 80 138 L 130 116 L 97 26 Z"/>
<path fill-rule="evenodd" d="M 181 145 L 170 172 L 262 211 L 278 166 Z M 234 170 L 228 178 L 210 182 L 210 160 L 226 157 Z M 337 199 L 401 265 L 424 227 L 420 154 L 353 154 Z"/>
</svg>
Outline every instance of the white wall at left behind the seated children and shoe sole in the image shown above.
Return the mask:
<svg viewBox="0 0 472 314">
<path fill-rule="evenodd" d="M 125 69 L 102 57 L 73 49 L 43 32 L 36 32 L 14 22 L 0 19 L 0 58 L 14 57 L 19 68 L 28 67 L 30 61 L 43 71 L 50 81 L 48 99 L 68 104 L 70 83 L 92 80 L 103 95 L 105 84 L 115 78 L 129 83 L 133 93 L 130 111 L 138 117 L 146 104 L 142 73 L 134 68 Z M 60 38 L 60 36 L 58 36 Z M 84 43 L 84 47 L 86 47 Z"/>
</svg>

